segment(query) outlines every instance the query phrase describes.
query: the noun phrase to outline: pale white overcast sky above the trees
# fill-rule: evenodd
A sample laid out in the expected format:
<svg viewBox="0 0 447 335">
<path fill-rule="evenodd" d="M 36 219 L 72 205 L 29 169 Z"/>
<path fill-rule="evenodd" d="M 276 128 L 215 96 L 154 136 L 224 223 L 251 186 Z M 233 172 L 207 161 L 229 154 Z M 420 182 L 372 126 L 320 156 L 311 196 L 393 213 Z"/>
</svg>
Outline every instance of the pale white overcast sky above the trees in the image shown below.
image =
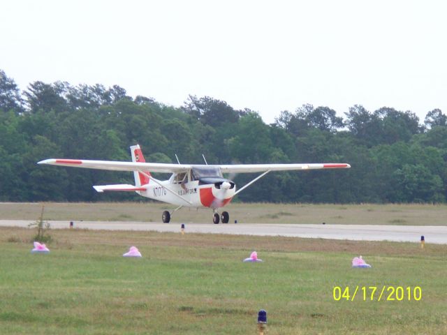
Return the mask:
<svg viewBox="0 0 447 335">
<path fill-rule="evenodd" d="M 447 112 L 446 1 L 1 1 L 0 68 L 258 111 Z"/>
</svg>

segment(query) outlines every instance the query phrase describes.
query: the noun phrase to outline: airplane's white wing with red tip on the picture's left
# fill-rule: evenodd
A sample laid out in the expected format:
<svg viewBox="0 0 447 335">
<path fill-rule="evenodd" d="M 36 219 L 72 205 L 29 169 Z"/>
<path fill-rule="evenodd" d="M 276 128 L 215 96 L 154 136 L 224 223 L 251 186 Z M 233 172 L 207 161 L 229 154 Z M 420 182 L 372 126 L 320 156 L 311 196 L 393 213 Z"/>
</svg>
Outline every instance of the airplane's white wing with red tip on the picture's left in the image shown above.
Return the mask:
<svg viewBox="0 0 447 335">
<path fill-rule="evenodd" d="M 112 171 L 150 171 L 163 173 L 186 172 L 191 169 L 189 164 L 165 164 L 165 163 L 138 163 L 117 161 L 89 161 L 86 159 L 58 159 L 50 158 L 38 162 L 38 164 L 49 164 L 59 166 L 70 166 L 72 168 L 86 168 Z"/>
</svg>

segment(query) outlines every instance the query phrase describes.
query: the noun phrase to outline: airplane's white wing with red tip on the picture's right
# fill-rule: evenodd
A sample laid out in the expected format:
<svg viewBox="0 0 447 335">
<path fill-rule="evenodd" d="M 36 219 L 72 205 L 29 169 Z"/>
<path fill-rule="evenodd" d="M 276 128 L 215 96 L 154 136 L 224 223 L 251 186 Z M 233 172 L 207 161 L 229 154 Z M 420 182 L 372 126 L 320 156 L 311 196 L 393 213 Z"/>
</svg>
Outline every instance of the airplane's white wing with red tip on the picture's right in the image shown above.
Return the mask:
<svg viewBox="0 0 447 335">
<path fill-rule="evenodd" d="M 220 165 L 223 173 L 250 173 L 265 171 L 292 171 L 316 169 L 349 169 L 346 163 L 309 163 L 309 164 L 236 164 Z"/>
</svg>

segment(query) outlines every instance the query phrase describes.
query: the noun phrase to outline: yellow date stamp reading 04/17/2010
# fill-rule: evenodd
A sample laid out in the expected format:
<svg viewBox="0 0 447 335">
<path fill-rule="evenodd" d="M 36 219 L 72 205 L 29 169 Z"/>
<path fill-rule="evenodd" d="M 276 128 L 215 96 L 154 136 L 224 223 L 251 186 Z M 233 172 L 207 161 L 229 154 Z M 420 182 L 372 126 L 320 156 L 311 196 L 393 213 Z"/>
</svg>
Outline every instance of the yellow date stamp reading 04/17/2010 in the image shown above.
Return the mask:
<svg viewBox="0 0 447 335">
<path fill-rule="evenodd" d="M 335 301 L 420 301 L 420 286 L 334 286 L 332 297 Z"/>
</svg>

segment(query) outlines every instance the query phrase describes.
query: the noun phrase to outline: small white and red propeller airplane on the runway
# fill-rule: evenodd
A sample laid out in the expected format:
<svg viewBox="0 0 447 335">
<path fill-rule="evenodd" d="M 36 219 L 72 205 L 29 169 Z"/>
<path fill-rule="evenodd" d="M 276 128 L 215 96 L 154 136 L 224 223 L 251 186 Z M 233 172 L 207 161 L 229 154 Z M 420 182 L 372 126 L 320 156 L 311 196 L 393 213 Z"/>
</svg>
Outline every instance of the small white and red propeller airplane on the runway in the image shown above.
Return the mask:
<svg viewBox="0 0 447 335">
<path fill-rule="evenodd" d="M 227 211 L 219 209 L 228 204 L 237 193 L 253 184 L 258 179 L 272 171 L 315 170 L 351 168 L 346 163 L 313 163 L 313 164 L 236 164 L 236 165 L 205 165 L 146 163 L 140 146 L 131 146 L 131 162 L 120 161 L 89 161 L 84 159 L 50 158 L 38 164 L 70 166 L 98 170 L 131 171 L 135 185 L 99 185 L 93 186 L 97 192 L 104 191 L 135 191 L 139 195 L 162 202 L 175 204 L 174 211 L 163 211 L 163 223 L 169 223 L 173 212 L 182 207 L 209 207 L 213 211 L 212 222 L 228 223 L 230 216 Z M 178 161 L 178 159 L 177 159 Z M 172 173 L 168 180 L 161 181 L 152 177 L 151 172 Z M 236 191 L 234 181 L 223 177 L 223 173 L 263 172 Z"/>
</svg>

